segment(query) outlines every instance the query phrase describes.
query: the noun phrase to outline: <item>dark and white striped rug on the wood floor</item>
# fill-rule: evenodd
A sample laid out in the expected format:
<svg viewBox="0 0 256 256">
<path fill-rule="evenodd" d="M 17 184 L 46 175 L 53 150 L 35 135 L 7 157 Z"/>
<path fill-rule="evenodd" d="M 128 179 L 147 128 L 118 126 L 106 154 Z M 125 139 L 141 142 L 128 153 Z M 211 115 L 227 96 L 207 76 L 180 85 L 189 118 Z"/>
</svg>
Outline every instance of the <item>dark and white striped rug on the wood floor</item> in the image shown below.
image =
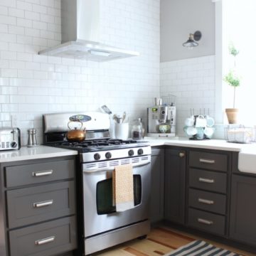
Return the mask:
<svg viewBox="0 0 256 256">
<path fill-rule="evenodd" d="M 188 245 L 181 246 L 177 250 L 167 253 L 164 256 L 239 256 L 229 250 L 224 250 L 208 242 L 197 240 Z"/>
</svg>

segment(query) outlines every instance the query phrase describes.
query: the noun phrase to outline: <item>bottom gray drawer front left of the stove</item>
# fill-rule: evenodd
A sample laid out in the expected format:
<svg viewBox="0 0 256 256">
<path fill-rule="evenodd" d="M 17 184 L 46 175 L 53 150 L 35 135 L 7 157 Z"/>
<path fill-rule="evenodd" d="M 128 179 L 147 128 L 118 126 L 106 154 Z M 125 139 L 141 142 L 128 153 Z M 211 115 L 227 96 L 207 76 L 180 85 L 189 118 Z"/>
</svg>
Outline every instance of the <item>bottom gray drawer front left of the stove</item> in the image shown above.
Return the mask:
<svg viewBox="0 0 256 256">
<path fill-rule="evenodd" d="M 75 233 L 75 217 L 10 231 L 11 256 L 51 256 L 74 250 Z"/>
</svg>

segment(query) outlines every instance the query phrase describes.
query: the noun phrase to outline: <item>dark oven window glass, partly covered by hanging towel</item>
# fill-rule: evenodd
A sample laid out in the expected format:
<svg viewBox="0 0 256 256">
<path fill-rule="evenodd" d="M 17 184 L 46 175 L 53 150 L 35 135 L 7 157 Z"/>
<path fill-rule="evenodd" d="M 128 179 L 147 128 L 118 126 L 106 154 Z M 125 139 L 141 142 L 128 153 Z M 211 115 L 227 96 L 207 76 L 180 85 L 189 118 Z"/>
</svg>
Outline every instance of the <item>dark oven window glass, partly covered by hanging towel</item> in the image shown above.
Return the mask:
<svg viewBox="0 0 256 256">
<path fill-rule="evenodd" d="M 116 208 L 112 206 L 112 178 L 98 182 L 96 189 L 97 214 L 115 213 Z M 134 206 L 140 203 L 142 203 L 142 177 L 134 175 Z"/>
</svg>

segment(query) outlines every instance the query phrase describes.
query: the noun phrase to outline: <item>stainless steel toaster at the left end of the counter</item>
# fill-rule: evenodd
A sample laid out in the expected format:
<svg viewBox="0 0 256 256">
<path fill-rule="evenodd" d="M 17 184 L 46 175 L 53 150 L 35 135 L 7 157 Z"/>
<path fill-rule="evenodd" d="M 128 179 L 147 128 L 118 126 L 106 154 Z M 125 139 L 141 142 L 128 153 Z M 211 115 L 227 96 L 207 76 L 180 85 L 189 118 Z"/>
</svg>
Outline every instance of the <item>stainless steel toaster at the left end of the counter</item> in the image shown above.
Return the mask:
<svg viewBox="0 0 256 256">
<path fill-rule="evenodd" d="M 0 127 L 0 150 L 20 149 L 21 131 L 18 128 Z"/>
</svg>

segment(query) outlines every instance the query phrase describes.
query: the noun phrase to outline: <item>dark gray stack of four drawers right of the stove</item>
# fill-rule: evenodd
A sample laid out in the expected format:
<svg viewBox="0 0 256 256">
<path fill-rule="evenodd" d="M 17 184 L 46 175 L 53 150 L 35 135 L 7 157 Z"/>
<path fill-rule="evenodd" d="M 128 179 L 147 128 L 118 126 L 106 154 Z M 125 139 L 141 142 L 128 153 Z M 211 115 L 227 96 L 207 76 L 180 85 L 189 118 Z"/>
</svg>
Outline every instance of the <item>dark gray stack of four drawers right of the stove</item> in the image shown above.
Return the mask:
<svg viewBox="0 0 256 256">
<path fill-rule="evenodd" d="M 227 235 L 230 156 L 227 151 L 189 151 L 188 227 Z"/>
</svg>

